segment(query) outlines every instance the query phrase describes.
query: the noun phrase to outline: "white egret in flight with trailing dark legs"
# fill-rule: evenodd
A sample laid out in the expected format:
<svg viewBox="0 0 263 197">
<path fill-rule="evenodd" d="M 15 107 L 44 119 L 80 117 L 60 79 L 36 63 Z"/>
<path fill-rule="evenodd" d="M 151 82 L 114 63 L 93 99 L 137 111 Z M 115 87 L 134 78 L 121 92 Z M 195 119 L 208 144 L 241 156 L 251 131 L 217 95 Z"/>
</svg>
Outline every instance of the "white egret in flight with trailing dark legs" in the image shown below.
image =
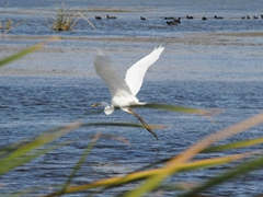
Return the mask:
<svg viewBox="0 0 263 197">
<path fill-rule="evenodd" d="M 119 107 L 122 111 L 136 116 L 144 127 L 158 140 L 157 135 L 138 114 L 132 111 L 130 106 L 146 104 L 139 102 L 136 94 L 142 85 L 147 69 L 159 59 L 163 49 L 164 48 L 162 46 L 155 48 L 152 53 L 133 65 L 127 70 L 125 79 L 117 72 L 115 67 L 113 67 L 110 57 L 102 50 L 98 50 L 98 55 L 94 60 L 95 72 L 106 83 L 112 95 L 112 104 L 110 105 L 106 102 L 101 102 L 95 103 L 92 106 L 105 106 L 104 113 L 106 115 L 111 115 L 115 107 Z"/>
</svg>

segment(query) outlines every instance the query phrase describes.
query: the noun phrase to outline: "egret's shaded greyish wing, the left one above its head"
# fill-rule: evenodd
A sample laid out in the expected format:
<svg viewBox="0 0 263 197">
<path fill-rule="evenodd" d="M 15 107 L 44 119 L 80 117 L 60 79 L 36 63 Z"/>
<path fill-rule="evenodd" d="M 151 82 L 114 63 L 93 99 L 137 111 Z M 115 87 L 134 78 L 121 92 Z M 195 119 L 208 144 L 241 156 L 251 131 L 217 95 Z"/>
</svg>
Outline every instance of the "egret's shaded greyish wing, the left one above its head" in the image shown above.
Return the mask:
<svg viewBox="0 0 263 197">
<path fill-rule="evenodd" d="M 127 83 L 124 78 L 117 72 L 115 67 L 113 67 L 112 61 L 108 56 L 106 56 L 102 50 L 98 50 L 98 55 L 94 60 L 96 74 L 106 83 L 112 97 L 119 91 L 125 91 L 132 94 Z"/>
</svg>

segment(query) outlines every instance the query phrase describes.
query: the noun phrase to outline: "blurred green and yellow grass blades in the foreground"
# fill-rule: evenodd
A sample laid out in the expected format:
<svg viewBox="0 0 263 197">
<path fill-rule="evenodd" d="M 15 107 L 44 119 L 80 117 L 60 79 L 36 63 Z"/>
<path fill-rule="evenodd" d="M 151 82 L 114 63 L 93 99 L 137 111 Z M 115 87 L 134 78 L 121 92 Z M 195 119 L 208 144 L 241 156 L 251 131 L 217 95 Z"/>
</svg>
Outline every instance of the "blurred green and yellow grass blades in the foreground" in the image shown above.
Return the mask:
<svg viewBox="0 0 263 197">
<path fill-rule="evenodd" d="M 35 46 L 28 47 L 13 56 L 7 57 L 0 60 L 0 67 L 8 65 L 13 60 L 18 60 L 23 56 L 34 53 L 41 49 L 45 43 L 37 44 Z M 168 104 L 148 104 L 145 107 L 152 109 L 163 109 L 171 111 L 175 113 L 187 113 L 187 114 L 197 114 L 211 116 L 215 111 L 209 109 L 195 109 L 183 106 L 168 105 Z M 92 113 L 90 114 L 92 116 Z M 258 126 L 263 123 L 263 114 L 258 114 L 251 118 L 248 118 L 241 123 L 237 123 L 228 128 L 219 130 L 204 139 L 201 139 L 197 143 L 187 148 L 183 152 L 178 155 L 173 155 L 171 158 L 167 158 L 164 160 L 156 161 L 155 163 L 148 164 L 147 166 L 129 173 L 125 176 L 111 177 L 101 181 L 94 181 L 89 184 L 72 186 L 71 182 L 75 178 L 77 172 L 81 169 L 87 157 L 89 157 L 90 151 L 92 151 L 95 142 L 103 137 L 101 134 L 96 134 L 89 142 L 87 148 L 84 149 L 82 155 L 79 161 L 76 163 L 72 172 L 68 175 L 67 181 L 62 184 L 60 189 L 57 192 L 45 195 L 45 197 L 52 196 L 62 196 L 71 193 L 81 193 L 83 190 L 90 190 L 91 196 L 103 194 L 104 192 L 114 188 L 122 187 L 125 184 L 136 182 L 137 187 L 133 190 L 128 190 L 126 193 L 117 194 L 116 196 L 125 196 L 125 197 L 137 197 L 150 194 L 155 190 L 169 190 L 169 192 L 180 192 L 181 196 L 197 196 L 203 192 L 215 187 L 219 184 L 224 184 L 231 178 L 239 177 L 245 173 L 251 171 L 261 169 L 263 165 L 263 155 L 262 151 L 247 152 L 242 151 L 239 154 L 228 153 L 227 151 L 231 151 L 235 149 L 247 148 L 250 146 L 255 146 L 263 143 L 263 138 L 248 139 L 244 141 L 236 141 L 232 143 L 221 144 L 221 146 L 213 146 L 215 142 L 220 141 L 222 139 L 229 138 L 233 135 L 240 134 L 250 129 L 254 126 Z M 43 131 L 39 136 L 34 139 L 24 142 L 19 141 L 16 143 L 7 144 L 2 147 L 0 150 L 0 175 L 7 175 L 9 172 L 14 170 L 18 166 L 21 166 L 37 157 L 41 157 L 48 151 L 55 150 L 59 147 L 67 146 L 72 143 L 73 141 L 65 141 L 58 142 L 56 139 L 61 138 L 62 136 L 72 132 L 75 129 L 79 127 L 94 127 L 94 126 L 119 126 L 119 127 L 142 127 L 138 124 L 130 123 L 81 123 L 80 119 L 72 121 L 71 124 L 60 127 L 54 128 L 52 130 Z M 153 128 L 161 128 L 160 126 L 152 126 Z M 104 136 L 105 137 L 105 136 Z M 113 138 L 121 140 L 125 143 L 128 141 L 122 137 L 107 136 L 106 138 Z M 245 149 L 243 149 L 245 150 Z M 210 153 L 216 151 L 225 151 L 226 155 L 215 157 L 209 159 L 196 159 L 199 153 Z M 245 160 L 243 160 L 247 158 Z M 248 159 L 249 158 L 249 159 Z M 195 160 L 193 160 L 195 159 Z M 208 181 L 204 181 L 203 183 L 198 183 L 191 187 L 182 188 L 182 185 L 176 183 L 164 184 L 164 181 L 170 176 L 176 175 L 182 172 L 191 172 L 199 169 L 207 169 L 211 166 L 222 165 L 230 163 L 236 160 L 243 160 L 242 164 L 236 165 L 235 169 L 229 170 L 228 172 L 221 172 L 221 174 L 209 178 Z M 160 166 L 161 165 L 161 166 Z M 141 182 L 138 182 L 141 181 Z M 15 179 L 13 181 L 15 182 Z M 20 190 L 12 190 L 11 194 L 20 194 Z M 31 192 L 25 192 L 26 195 L 31 195 Z M 20 195 L 16 195 L 20 196 Z M 21 192 L 21 196 L 24 196 L 23 192 Z"/>
</svg>

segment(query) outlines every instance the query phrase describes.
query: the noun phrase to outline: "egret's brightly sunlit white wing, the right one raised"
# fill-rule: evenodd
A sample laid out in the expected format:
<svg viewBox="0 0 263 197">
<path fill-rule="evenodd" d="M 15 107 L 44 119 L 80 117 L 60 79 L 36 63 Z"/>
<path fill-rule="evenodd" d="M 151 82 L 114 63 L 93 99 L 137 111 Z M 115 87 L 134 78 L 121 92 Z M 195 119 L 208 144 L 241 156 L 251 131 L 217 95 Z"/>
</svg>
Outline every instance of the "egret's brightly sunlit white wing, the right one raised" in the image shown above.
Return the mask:
<svg viewBox="0 0 263 197">
<path fill-rule="evenodd" d="M 147 69 L 159 59 L 163 49 L 162 46 L 155 48 L 152 53 L 137 61 L 127 70 L 125 81 L 134 95 L 139 92 Z"/>
</svg>

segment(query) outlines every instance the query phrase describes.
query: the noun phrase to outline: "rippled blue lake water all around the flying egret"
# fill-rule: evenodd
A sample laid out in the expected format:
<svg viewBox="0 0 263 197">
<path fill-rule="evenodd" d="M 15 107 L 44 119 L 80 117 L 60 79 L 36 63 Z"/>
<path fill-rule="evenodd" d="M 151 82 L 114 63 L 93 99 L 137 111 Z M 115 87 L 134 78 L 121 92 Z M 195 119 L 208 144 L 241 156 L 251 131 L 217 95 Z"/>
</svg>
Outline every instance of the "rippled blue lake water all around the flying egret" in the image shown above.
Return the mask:
<svg viewBox="0 0 263 197">
<path fill-rule="evenodd" d="M 46 20 L 55 15 L 54 1 L 11 1 L 0 21 L 27 19 L 0 37 L 0 57 L 8 56 L 44 37 L 59 35 L 42 50 L 1 68 L 0 72 L 0 146 L 32 139 L 36 135 L 67 125 L 81 117 L 82 123 L 138 123 L 121 111 L 106 116 L 92 103 L 107 101 L 110 94 L 96 77 L 93 59 L 96 48 L 104 49 L 119 72 L 153 47 L 165 50 L 149 69 L 138 99 L 148 103 L 168 103 L 196 108 L 227 109 L 214 117 L 216 123 L 196 115 L 137 108 L 148 124 L 167 125 L 155 130 L 160 141 L 141 128 L 81 127 L 61 141 L 70 146 L 52 151 L 0 179 L 0 193 L 38 188 L 46 193 L 64 184 L 87 144 L 98 131 L 129 140 L 130 146 L 110 139 L 95 144 L 73 179 L 80 185 L 123 175 L 153 161 L 179 154 L 202 137 L 262 112 L 263 106 L 263 20 L 241 20 L 262 13 L 263 1 L 65 1 L 70 11 L 83 13 L 96 31 L 80 20 L 73 32 L 53 32 Z M 5 1 L 0 0 L 3 9 Z M 0 10 L 1 12 L 1 10 Z M 34 14 L 32 18 L 31 15 Z M 116 20 L 98 21 L 95 15 L 116 15 Z M 140 15 L 146 21 L 140 21 Z M 193 15 L 194 20 L 186 20 Z M 224 20 L 214 20 L 221 15 Z M 182 18 L 168 26 L 164 16 Z M 207 21 L 202 21 L 207 16 Z M 235 136 L 225 142 L 262 136 L 262 126 Z M 262 149 L 251 147 L 248 151 Z M 237 150 L 238 153 L 242 150 Z M 201 158 L 224 153 L 202 154 Z M 239 162 L 238 162 L 239 163 Z M 199 183 L 229 170 L 232 164 L 193 173 L 182 173 L 169 183 Z M 213 188 L 208 196 L 256 196 L 263 194 L 262 171 Z M 242 186 L 240 186 L 242 185 Z M 116 188 L 102 196 L 114 196 L 135 185 Z M 39 195 L 39 193 L 32 196 Z M 165 193 L 164 196 L 174 196 Z M 83 196 L 72 195 L 72 196 Z"/>
</svg>

